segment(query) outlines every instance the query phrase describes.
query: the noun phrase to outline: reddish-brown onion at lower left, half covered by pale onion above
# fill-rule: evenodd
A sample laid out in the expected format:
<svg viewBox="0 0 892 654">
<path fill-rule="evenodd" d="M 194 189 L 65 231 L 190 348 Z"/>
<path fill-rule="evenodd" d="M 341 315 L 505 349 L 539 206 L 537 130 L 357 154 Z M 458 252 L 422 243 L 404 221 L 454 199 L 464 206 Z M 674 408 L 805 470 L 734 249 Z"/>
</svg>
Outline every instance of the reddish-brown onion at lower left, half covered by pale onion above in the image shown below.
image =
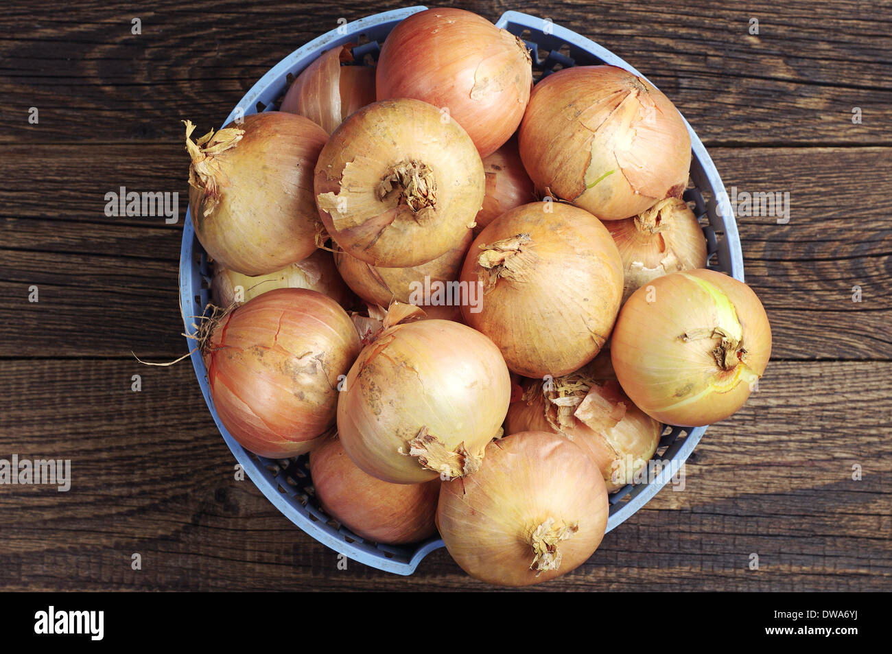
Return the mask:
<svg viewBox="0 0 892 654">
<path fill-rule="evenodd" d="M 439 479 L 388 484 L 357 468 L 336 438 L 312 451 L 310 474 L 326 513 L 362 538 L 400 544 L 422 541 L 436 530 Z"/>
</svg>

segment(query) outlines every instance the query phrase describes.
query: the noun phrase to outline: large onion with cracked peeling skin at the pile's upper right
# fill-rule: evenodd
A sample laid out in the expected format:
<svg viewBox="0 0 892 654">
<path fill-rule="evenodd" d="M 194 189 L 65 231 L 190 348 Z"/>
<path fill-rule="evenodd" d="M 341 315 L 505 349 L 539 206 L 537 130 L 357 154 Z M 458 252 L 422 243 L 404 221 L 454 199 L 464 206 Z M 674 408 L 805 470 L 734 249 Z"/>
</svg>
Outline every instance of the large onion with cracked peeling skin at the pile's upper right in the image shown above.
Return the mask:
<svg viewBox="0 0 892 654">
<path fill-rule="evenodd" d="M 533 89 L 518 137 L 537 187 L 602 220 L 681 197 L 690 135 L 670 100 L 615 66 L 558 70 Z"/>
</svg>

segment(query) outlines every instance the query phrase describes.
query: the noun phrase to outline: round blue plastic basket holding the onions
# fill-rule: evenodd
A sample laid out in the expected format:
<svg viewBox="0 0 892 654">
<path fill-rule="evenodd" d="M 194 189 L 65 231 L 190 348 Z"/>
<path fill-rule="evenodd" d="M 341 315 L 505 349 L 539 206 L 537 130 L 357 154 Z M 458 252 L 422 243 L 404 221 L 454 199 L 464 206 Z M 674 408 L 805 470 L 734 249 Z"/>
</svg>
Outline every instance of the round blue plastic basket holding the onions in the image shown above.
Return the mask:
<svg viewBox="0 0 892 654">
<path fill-rule="evenodd" d="M 285 94 L 290 77 L 296 76 L 319 54 L 335 46 L 347 43 L 359 43 L 353 49 L 357 61 L 366 55 L 376 57 L 380 44 L 391 29 L 407 16 L 426 9 L 424 6 L 409 7 L 392 12 L 377 13 L 360 21 L 354 21 L 333 29 L 327 34 L 313 39 L 307 45 L 295 50 L 276 66 L 269 70 L 255 84 L 229 114 L 224 125 L 235 120 L 239 115 L 269 111 Z M 609 63 L 630 70 L 640 75 L 628 63 L 609 52 L 588 38 L 555 25 L 549 20 L 535 18 L 525 13 L 505 12 L 496 23 L 500 28 L 522 37 L 532 50 L 533 72 L 536 77 L 548 75 L 554 70 L 576 64 L 596 65 Z M 643 77 L 643 76 L 641 76 Z M 725 193 L 722 179 L 715 170 L 712 159 L 706 148 L 690 128 L 693 158 L 690 178 L 693 187 L 689 188 L 684 199 L 694 204 L 694 212 L 708 226 L 704 226 L 710 268 L 722 270 L 743 281 L 743 255 L 740 252 L 740 239 L 737 225 L 731 211 L 728 195 Z M 720 211 L 716 211 L 716 207 Z M 211 269 L 201 244 L 195 237 L 192 217 L 186 212 L 186 225 L 183 229 L 183 246 L 180 254 L 179 283 L 180 310 L 186 333 L 194 332 L 194 317 L 202 315 L 209 302 L 209 286 Z M 192 341 L 189 342 L 193 346 Z M 319 508 L 314 497 L 309 470 L 306 468 L 306 457 L 290 460 L 272 460 L 258 457 L 239 445 L 220 423 L 217 411 L 211 401 L 208 387 L 207 369 L 198 352 L 192 354 L 195 376 L 202 387 L 204 400 L 208 403 L 211 415 L 219 427 L 220 434 L 226 441 L 235 459 L 242 465 L 253 483 L 268 500 L 276 505 L 295 525 L 310 534 L 318 542 L 332 550 L 343 553 L 350 559 L 359 561 L 380 570 L 398 575 L 411 575 L 425 555 L 443 546 L 439 538 L 432 538 L 414 546 L 392 546 L 376 542 L 368 542 L 349 529 L 339 525 L 333 518 Z M 657 492 L 667 484 L 674 471 L 690 456 L 706 427 L 689 429 L 686 427 L 665 428 L 660 439 L 657 456 L 663 462 L 662 471 L 646 484 L 629 484 L 610 496 L 610 517 L 607 531 L 620 525 L 635 511 L 640 509 Z"/>
</svg>

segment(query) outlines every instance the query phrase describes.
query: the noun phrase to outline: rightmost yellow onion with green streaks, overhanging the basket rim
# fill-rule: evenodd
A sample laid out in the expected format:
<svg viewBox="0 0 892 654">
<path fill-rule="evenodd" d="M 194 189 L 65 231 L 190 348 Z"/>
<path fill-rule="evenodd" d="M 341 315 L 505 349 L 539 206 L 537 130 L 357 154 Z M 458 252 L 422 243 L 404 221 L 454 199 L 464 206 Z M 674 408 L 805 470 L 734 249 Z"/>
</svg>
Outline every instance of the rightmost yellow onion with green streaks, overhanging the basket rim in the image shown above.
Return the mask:
<svg viewBox="0 0 892 654">
<path fill-rule="evenodd" d="M 610 357 L 651 418 L 704 426 L 747 401 L 772 350 L 768 317 L 746 284 L 714 270 L 657 277 L 620 311 Z"/>
</svg>

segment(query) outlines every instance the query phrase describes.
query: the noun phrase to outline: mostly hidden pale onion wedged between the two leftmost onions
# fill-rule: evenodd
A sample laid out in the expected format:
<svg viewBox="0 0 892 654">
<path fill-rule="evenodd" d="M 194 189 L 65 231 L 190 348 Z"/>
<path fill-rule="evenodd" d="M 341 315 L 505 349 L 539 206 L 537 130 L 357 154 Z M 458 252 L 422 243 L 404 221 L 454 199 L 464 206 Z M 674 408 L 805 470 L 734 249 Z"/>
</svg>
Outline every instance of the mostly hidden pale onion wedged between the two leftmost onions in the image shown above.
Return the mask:
<svg viewBox="0 0 892 654">
<path fill-rule="evenodd" d="M 343 307 L 352 302 L 350 290 L 338 275 L 331 253 L 325 250 L 317 250 L 303 261 L 259 277 L 214 266 L 211 294 L 219 307 L 239 307 L 276 288 L 309 288 L 327 295 Z"/>
</svg>

